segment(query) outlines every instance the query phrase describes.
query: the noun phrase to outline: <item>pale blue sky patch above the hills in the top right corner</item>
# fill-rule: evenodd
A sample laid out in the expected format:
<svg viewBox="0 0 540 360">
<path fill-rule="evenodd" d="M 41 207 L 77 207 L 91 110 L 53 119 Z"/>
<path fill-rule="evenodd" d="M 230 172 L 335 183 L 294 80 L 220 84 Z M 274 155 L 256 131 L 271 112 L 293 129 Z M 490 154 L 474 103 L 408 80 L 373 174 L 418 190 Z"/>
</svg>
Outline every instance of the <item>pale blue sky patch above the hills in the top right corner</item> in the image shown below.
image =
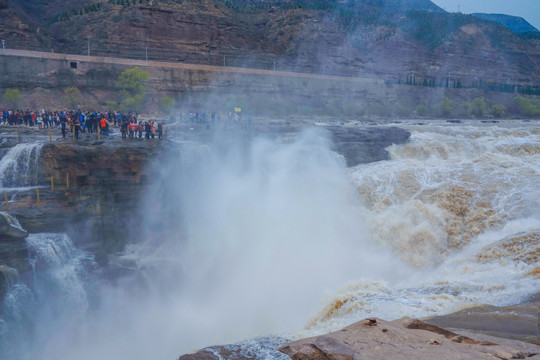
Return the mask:
<svg viewBox="0 0 540 360">
<path fill-rule="evenodd" d="M 521 16 L 540 30 L 540 0 L 431 0 L 449 12 L 483 12 Z"/>
</svg>

